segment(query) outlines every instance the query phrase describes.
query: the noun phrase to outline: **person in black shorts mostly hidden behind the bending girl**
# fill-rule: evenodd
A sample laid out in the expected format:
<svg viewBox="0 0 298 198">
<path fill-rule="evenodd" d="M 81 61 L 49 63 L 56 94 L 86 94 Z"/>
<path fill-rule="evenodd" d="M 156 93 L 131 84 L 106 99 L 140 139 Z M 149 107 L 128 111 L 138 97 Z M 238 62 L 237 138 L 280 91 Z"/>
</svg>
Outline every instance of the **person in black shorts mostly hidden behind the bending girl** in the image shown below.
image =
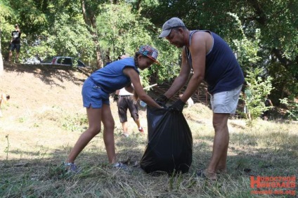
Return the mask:
<svg viewBox="0 0 298 198">
<path fill-rule="evenodd" d="M 118 59 L 128 58 L 128 55 L 119 56 Z M 122 124 L 124 137 L 129 137 L 128 127 L 127 127 L 127 110 L 129 110 L 131 117 L 134 119 L 134 122 L 138 126 L 138 131 L 144 134 L 143 127 L 141 126 L 140 119 L 138 117 L 138 105 L 133 98 L 133 93 L 130 93 L 125 88 L 121 88 L 116 91 L 114 95 L 114 101 L 117 102 L 118 115 L 120 122 Z"/>
</svg>

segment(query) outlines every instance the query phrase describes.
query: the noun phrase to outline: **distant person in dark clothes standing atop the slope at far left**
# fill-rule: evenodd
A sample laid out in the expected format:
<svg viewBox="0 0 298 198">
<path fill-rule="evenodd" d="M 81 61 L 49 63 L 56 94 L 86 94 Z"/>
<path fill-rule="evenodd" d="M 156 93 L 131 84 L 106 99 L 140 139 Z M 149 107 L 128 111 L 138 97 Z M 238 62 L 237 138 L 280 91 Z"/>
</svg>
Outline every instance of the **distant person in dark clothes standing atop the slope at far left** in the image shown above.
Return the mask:
<svg viewBox="0 0 298 198">
<path fill-rule="evenodd" d="M 15 30 L 11 32 L 11 44 L 9 48 L 9 56 L 8 61 L 11 62 L 11 57 L 13 56 L 13 51 L 15 50 L 15 62 L 18 62 L 18 58 L 20 55 L 20 27 L 18 24 L 15 24 Z"/>
</svg>

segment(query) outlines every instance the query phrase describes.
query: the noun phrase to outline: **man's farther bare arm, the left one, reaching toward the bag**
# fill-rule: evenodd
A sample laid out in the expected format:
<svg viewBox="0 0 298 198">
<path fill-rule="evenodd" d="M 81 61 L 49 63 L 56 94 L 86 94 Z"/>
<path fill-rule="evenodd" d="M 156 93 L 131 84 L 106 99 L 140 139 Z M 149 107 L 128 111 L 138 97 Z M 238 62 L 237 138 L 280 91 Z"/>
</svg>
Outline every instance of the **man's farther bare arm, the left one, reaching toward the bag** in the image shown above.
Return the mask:
<svg viewBox="0 0 298 198">
<path fill-rule="evenodd" d="M 175 95 L 175 93 L 177 93 L 177 91 L 179 91 L 186 84 L 189 74 L 190 74 L 190 66 L 188 65 L 186 52 L 185 52 L 185 49 L 183 48 L 181 70 L 180 70 L 179 76 L 176 77 L 173 84 L 171 84 L 171 87 L 166 91 L 166 93 L 164 93 L 164 95 L 167 98 L 171 98 L 173 95 Z"/>
</svg>

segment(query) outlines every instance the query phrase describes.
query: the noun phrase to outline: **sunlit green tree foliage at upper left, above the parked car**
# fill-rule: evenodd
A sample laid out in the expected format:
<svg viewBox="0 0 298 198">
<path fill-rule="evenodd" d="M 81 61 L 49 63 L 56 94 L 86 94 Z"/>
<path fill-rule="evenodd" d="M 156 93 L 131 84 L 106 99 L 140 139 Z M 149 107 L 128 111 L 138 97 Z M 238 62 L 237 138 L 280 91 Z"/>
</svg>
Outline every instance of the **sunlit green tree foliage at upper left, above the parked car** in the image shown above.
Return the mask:
<svg viewBox="0 0 298 198">
<path fill-rule="evenodd" d="M 25 60 L 39 55 L 79 56 L 89 62 L 93 59 L 93 43 L 82 18 L 81 4 L 77 0 L 39 1 L 26 4 L 10 2 L 13 18 L 22 30 L 22 53 Z"/>
</svg>

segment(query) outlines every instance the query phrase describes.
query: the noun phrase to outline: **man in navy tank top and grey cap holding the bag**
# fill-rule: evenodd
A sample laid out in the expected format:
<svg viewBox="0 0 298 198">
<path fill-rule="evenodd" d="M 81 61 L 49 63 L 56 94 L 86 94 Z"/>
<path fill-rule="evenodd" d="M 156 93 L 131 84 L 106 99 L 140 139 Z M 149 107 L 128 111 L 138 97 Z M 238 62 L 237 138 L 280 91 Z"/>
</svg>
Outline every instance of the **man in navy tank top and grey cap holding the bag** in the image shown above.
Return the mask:
<svg viewBox="0 0 298 198">
<path fill-rule="evenodd" d="M 205 80 L 211 94 L 213 111 L 214 143 L 212 157 L 207 169 L 197 172 L 198 177 L 216 180 L 217 172 L 226 172 L 228 152 L 228 117 L 234 114 L 238 105 L 244 76 L 230 46 L 224 39 L 209 30 L 190 31 L 179 18 L 164 22 L 160 38 L 182 48 L 182 61 L 179 76 L 171 87 L 156 99 L 164 105 L 188 81 L 191 70 L 193 76 L 188 82 L 186 91 L 170 107 L 182 112 L 184 104 Z"/>
</svg>

